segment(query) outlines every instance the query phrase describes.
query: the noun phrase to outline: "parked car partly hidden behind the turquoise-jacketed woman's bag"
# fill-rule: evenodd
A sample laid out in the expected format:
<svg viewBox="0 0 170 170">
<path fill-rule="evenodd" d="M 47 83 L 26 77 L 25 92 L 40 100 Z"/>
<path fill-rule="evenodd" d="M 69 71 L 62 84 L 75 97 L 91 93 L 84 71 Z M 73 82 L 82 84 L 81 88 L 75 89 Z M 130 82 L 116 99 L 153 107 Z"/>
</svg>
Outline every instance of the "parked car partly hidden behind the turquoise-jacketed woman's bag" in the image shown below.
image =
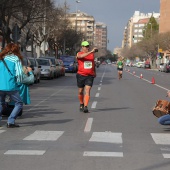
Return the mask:
<svg viewBox="0 0 170 170">
<path fill-rule="evenodd" d="M 41 76 L 41 66 L 38 64 L 35 58 L 29 58 L 29 60 L 31 62 L 31 66 L 33 67 L 34 83 L 39 83 Z"/>
</svg>

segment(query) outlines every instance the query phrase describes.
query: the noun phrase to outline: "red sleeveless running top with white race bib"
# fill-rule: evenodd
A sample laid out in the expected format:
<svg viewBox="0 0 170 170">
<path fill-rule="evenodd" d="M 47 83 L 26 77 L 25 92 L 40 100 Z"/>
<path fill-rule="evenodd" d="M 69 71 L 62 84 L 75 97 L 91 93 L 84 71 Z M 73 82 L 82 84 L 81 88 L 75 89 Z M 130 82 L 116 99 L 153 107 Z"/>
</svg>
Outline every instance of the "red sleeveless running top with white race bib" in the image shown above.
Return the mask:
<svg viewBox="0 0 170 170">
<path fill-rule="evenodd" d="M 78 52 L 78 54 L 83 54 L 84 52 Z M 77 73 L 83 76 L 94 76 L 95 75 L 95 63 L 94 63 L 94 53 L 90 53 L 84 58 L 77 58 L 78 71 Z"/>
</svg>

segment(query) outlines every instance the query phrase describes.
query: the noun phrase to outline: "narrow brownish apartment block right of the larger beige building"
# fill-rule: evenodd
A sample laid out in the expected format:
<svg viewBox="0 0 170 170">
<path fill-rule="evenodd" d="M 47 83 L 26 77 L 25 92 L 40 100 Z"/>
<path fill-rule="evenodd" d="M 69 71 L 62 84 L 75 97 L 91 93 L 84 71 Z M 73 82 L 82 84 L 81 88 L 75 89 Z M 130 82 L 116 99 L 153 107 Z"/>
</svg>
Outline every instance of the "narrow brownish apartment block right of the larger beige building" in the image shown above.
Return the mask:
<svg viewBox="0 0 170 170">
<path fill-rule="evenodd" d="M 104 23 L 95 24 L 94 45 L 98 48 L 107 49 L 107 26 Z"/>
</svg>

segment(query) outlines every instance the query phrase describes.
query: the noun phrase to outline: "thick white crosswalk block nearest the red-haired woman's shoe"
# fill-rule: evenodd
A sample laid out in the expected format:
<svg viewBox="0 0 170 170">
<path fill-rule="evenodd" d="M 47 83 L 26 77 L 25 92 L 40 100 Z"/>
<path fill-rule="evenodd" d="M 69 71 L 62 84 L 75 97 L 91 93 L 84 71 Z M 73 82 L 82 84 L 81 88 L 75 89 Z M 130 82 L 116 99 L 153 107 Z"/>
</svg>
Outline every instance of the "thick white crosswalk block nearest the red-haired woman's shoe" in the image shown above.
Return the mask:
<svg viewBox="0 0 170 170">
<path fill-rule="evenodd" d="M 56 141 L 64 131 L 35 131 L 23 140 Z"/>
</svg>

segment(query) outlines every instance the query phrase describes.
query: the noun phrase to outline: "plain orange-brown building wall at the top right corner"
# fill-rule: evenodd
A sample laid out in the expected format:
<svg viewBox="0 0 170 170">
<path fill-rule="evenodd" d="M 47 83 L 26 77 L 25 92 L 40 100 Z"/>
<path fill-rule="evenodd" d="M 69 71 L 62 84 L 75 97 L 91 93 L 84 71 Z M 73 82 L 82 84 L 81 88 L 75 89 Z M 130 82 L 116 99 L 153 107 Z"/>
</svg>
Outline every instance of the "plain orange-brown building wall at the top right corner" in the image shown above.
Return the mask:
<svg viewBox="0 0 170 170">
<path fill-rule="evenodd" d="M 170 0 L 160 1 L 159 33 L 170 31 Z"/>
</svg>

